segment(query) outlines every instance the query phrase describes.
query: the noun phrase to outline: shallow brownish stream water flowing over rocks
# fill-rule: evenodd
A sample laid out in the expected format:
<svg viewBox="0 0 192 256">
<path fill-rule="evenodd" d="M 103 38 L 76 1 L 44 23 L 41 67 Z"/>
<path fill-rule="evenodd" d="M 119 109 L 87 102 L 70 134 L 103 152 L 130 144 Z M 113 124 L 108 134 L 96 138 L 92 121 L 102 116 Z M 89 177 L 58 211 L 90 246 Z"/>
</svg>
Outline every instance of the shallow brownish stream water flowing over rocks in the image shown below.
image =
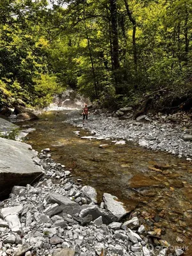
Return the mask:
<svg viewBox="0 0 192 256">
<path fill-rule="evenodd" d="M 164 152 L 137 147 L 132 143 L 114 145 L 111 140 L 81 140 L 77 129 L 63 122 L 66 111 L 47 112 L 33 123 L 36 131 L 28 135 L 28 143 L 40 151 L 51 149 L 52 158 L 71 168 L 73 179 L 111 193 L 122 200 L 130 211 L 143 212 L 143 218 L 160 217 L 156 228 L 165 228 L 163 239 L 174 246 L 189 246 L 192 255 L 192 166 L 185 160 Z M 107 148 L 100 144 L 108 143 Z M 177 244 L 179 236 L 184 243 Z"/>
</svg>

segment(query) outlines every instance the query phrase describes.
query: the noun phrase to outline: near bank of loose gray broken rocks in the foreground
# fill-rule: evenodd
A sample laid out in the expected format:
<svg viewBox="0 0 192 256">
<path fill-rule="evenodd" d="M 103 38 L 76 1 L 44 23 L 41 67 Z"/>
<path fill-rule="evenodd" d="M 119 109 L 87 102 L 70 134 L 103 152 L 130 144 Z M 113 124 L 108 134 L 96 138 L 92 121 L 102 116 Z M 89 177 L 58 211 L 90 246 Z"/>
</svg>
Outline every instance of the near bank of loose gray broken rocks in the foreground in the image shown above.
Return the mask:
<svg viewBox="0 0 192 256">
<path fill-rule="evenodd" d="M 0 204 L 0 255 L 167 255 L 170 244 L 161 239 L 161 230 L 154 236 L 137 212 L 129 214 L 108 193 L 97 205 L 95 189 L 81 186 L 81 180 L 74 184 L 70 170 L 50 153 L 46 148 L 39 155 L 42 180 L 13 187 Z M 169 255 L 183 253 L 172 248 Z"/>
</svg>

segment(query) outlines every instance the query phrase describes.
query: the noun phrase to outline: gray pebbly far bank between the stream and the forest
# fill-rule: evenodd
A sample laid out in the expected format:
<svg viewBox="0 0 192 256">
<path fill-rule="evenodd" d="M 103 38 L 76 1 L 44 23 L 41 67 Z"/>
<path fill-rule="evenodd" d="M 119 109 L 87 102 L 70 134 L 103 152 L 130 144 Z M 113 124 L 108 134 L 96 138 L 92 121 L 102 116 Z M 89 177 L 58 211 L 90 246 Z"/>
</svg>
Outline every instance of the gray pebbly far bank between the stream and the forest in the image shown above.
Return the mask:
<svg viewBox="0 0 192 256">
<path fill-rule="evenodd" d="M 184 113 L 140 116 L 137 120 L 121 120 L 117 116 L 91 113 L 88 122 L 83 125 L 79 112 L 72 111 L 68 113 L 67 122 L 77 127 L 84 126 L 97 137 L 133 141 L 141 147 L 163 150 L 192 161 L 191 118 Z"/>
</svg>

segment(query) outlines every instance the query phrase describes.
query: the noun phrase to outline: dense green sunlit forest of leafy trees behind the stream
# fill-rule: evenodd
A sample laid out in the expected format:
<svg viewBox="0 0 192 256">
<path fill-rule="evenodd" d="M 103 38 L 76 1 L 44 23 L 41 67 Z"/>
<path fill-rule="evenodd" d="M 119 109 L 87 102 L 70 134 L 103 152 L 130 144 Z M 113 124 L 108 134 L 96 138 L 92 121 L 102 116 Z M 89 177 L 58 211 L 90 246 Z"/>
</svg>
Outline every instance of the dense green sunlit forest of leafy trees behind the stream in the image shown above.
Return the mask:
<svg viewBox="0 0 192 256">
<path fill-rule="evenodd" d="M 191 13 L 192 0 L 0 0 L 0 108 L 72 88 L 108 109 L 190 109 Z"/>
</svg>

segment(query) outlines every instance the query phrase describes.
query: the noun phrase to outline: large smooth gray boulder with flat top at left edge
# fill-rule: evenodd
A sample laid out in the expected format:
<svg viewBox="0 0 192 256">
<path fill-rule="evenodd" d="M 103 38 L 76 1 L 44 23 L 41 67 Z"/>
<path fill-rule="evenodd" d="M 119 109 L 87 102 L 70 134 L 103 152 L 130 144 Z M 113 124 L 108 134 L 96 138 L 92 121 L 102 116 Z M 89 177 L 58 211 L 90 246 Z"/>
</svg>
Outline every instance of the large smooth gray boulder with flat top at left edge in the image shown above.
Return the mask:
<svg viewBox="0 0 192 256">
<path fill-rule="evenodd" d="M 19 141 L 0 138 L 0 200 L 8 196 L 13 186 L 26 186 L 42 175 L 36 164 L 37 152 Z"/>
</svg>

